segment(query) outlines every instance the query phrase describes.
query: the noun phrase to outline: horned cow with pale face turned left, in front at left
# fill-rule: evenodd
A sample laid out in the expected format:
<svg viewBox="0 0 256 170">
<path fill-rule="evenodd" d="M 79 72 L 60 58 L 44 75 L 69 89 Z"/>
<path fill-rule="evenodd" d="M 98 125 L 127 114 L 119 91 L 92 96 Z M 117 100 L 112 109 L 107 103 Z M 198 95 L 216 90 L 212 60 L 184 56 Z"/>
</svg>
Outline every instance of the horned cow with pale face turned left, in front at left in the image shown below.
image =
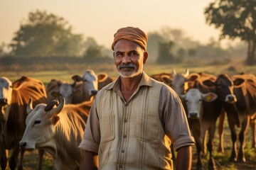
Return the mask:
<svg viewBox="0 0 256 170">
<path fill-rule="evenodd" d="M 41 148 L 53 157 L 56 170 L 80 169 L 84 151 L 78 148 L 92 101 L 65 105 L 65 99 L 46 105 L 27 107 L 26 130 L 21 139 L 23 149 Z"/>
</svg>

